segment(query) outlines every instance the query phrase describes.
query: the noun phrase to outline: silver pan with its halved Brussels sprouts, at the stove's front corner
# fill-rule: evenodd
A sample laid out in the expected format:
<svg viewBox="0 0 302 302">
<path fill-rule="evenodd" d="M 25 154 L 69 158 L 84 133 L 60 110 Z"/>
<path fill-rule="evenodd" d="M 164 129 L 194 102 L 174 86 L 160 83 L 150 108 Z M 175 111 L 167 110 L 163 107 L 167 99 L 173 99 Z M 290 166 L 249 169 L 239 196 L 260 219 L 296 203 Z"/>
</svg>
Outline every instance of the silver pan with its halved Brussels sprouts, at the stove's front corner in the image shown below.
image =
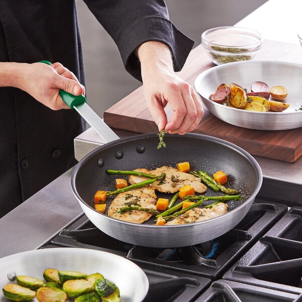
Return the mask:
<svg viewBox="0 0 302 302">
<path fill-rule="evenodd" d="M 0 259 L 1 302 L 141 302 L 145 273 L 123 257 L 91 249 L 50 248 Z"/>
</svg>

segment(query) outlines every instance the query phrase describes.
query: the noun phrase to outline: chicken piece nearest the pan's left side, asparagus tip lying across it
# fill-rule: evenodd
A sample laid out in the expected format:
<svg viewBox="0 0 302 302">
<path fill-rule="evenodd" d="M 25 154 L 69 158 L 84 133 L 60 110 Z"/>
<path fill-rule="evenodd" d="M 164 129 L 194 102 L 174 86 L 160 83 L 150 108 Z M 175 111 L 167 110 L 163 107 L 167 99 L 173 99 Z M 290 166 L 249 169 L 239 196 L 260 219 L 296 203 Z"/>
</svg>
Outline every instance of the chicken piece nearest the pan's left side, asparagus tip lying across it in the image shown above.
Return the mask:
<svg viewBox="0 0 302 302">
<path fill-rule="evenodd" d="M 143 187 L 120 193 L 112 200 L 112 203 L 108 208 L 108 216 L 123 221 L 143 223 L 148 220 L 152 214 L 135 210 L 121 214 L 119 212 L 120 208 L 132 203 L 140 207 L 156 210 L 156 198 L 155 189 L 150 187 Z"/>
</svg>

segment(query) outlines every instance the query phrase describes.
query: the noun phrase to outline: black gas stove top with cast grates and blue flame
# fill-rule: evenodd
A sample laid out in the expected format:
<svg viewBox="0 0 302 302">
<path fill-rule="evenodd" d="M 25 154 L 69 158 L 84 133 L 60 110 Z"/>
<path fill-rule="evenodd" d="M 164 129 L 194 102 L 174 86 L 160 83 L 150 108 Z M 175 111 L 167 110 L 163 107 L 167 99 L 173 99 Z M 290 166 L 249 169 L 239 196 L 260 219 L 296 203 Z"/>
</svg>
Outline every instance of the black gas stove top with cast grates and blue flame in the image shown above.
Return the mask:
<svg viewBox="0 0 302 302">
<path fill-rule="evenodd" d="M 127 244 L 84 214 L 42 248 L 80 247 L 128 258 L 149 280 L 144 302 L 302 301 L 302 208 L 256 199 L 228 233 L 182 248 Z"/>
</svg>

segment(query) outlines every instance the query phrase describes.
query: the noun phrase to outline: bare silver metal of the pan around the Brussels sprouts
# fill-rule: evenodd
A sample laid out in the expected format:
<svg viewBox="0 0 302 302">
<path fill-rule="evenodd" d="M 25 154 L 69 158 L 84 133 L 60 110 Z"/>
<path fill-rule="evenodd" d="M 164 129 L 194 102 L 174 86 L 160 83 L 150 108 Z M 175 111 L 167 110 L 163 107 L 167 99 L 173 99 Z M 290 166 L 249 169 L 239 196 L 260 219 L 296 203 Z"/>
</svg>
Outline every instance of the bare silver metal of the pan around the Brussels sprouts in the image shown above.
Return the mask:
<svg viewBox="0 0 302 302">
<path fill-rule="evenodd" d="M 0 259 L 0 287 L 12 282 L 7 273 L 43 279 L 47 268 L 75 270 L 87 274 L 99 272 L 120 289 L 121 301 L 140 302 L 147 294 L 149 283 L 145 273 L 133 262 L 103 251 L 80 248 L 33 250 Z M 37 299 L 35 298 L 37 301 Z M 2 294 L 1 302 L 8 299 Z"/>
</svg>

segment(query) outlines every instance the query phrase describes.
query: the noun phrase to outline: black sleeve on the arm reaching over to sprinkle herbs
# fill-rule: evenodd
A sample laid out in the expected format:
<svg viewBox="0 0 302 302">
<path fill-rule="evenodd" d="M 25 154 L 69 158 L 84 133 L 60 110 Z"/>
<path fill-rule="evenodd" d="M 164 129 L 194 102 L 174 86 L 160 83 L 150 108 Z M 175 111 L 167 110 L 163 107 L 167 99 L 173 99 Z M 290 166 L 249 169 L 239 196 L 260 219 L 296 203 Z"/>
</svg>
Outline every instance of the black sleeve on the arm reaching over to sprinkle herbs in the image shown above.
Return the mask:
<svg viewBox="0 0 302 302">
<path fill-rule="evenodd" d="M 141 81 L 134 50 L 141 43 L 156 40 L 171 50 L 174 70 L 179 71 L 194 41 L 171 21 L 163 0 L 84 0 L 97 20 L 115 41 L 126 70 Z"/>
</svg>

